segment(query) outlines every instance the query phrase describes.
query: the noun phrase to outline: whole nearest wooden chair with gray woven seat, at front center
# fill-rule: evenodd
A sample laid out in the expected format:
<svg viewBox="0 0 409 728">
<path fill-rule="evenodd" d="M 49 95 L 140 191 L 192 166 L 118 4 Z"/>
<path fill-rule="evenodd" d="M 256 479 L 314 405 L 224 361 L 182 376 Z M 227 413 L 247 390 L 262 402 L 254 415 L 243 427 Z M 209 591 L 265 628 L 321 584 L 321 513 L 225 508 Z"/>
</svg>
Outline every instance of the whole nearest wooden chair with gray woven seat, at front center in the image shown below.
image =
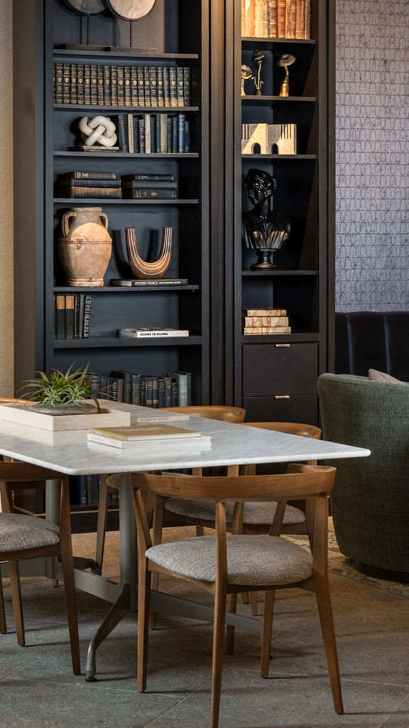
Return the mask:
<svg viewBox="0 0 409 728">
<path fill-rule="evenodd" d="M 343 713 L 341 682 L 327 574 L 328 494 L 335 468 L 290 464 L 284 475 L 196 477 L 189 475 L 132 475 L 138 523 L 138 690 L 146 689 L 151 574 L 186 579 L 215 598 L 213 622 L 213 687 L 211 727 L 218 726 L 223 663 L 226 598 L 243 591 L 266 590 L 261 676 L 269 675 L 274 591 L 301 587 L 317 597 L 319 620 L 337 713 Z M 202 500 L 215 507 L 215 535 L 152 545 L 140 491 Z M 232 534 L 226 536 L 226 504 L 237 503 L 234 519 L 245 502 L 287 502 L 306 499 L 311 554 L 285 537 Z M 227 561 L 229 553 L 229 565 Z M 235 611 L 232 604 L 231 611 Z M 233 633 L 234 628 L 228 630 Z M 231 643 L 232 643 L 231 638 Z"/>
</svg>

